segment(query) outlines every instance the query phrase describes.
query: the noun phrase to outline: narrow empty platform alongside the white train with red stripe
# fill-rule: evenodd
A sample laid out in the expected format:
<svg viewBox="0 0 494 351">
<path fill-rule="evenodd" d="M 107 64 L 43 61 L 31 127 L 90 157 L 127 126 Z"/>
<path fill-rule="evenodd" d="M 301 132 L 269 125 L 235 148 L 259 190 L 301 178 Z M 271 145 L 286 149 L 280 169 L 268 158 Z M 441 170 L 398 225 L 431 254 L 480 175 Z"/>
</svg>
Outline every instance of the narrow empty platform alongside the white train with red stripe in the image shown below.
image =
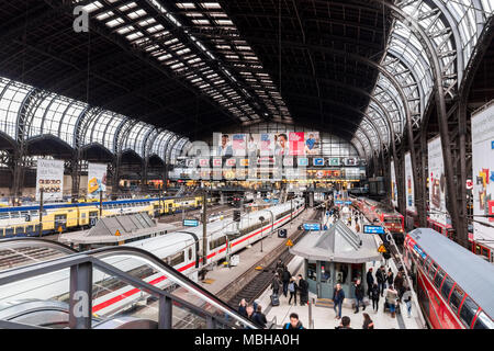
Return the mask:
<svg viewBox="0 0 494 351">
<path fill-rule="evenodd" d="M 314 215 L 315 210 L 307 208 L 292 222 L 285 224 L 281 228 L 287 228 L 288 234 L 287 237 L 290 238 L 294 231 L 297 230 L 297 227 L 307 218 Z M 278 230 L 278 229 L 277 229 Z M 266 237 L 261 240 L 256 241 L 251 245 L 251 248 L 246 248 L 238 252 L 239 256 L 239 264 L 235 267 L 224 267 L 224 265 L 214 265 L 212 271 L 207 272 L 206 280 L 199 281 L 199 284 L 206 288 L 209 292 L 215 294 L 227 285 L 232 283 L 232 280 L 242 275 L 247 270 L 252 268 L 252 264 L 261 260 L 263 257 L 270 254 L 277 247 L 280 246 L 283 241 L 287 241 L 285 238 L 279 238 L 277 235 L 277 230 L 272 234 L 267 230 L 265 234 Z M 262 245 L 262 252 L 261 252 Z"/>
</svg>

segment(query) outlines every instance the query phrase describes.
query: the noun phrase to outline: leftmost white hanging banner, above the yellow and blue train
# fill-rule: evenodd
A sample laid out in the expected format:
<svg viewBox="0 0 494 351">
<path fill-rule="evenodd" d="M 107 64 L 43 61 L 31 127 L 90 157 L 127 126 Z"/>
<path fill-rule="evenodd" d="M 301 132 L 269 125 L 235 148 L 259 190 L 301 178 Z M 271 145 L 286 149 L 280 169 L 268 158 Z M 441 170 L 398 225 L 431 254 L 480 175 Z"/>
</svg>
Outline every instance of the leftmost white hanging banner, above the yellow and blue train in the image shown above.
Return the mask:
<svg viewBox="0 0 494 351">
<path fill-rule="evenodd" d="M 64 161 L 38 159 L 36 166 L 36 201 L 43 189 L 43 200 L 61 200 L 64 191 Z"/>
</svg>

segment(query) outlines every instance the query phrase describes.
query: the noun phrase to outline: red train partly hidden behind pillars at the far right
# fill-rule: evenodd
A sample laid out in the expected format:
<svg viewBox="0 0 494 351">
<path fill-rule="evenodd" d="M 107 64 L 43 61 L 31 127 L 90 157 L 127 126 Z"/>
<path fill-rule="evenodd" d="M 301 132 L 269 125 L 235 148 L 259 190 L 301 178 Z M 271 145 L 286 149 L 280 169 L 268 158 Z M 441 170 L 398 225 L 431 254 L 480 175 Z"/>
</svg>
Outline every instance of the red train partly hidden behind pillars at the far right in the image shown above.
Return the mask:
<svg viewBox="0 0 494 351">
<path fill-rule="evenodd" d="M 415 211 L 406 211 L 406 227 L 407 228 L 418 228 L 420 225 L 418 223 L 418 215 Z M 439 222 L 436 222 L 427 216 L 427 227 L 431 228 L 445 237 L 449 239 L 453 239 L 454 229 L 452 228 L 451 224 L 442 224 Z M 472 251 L 475 254 L 484 257 L 487 261 L 494 263 L 494 252 L 493 250 L 483 245 L 482 242 L 478 242 L 473 239 L 473 228 L 469 227 L 469 250 Z"/>
</svg>

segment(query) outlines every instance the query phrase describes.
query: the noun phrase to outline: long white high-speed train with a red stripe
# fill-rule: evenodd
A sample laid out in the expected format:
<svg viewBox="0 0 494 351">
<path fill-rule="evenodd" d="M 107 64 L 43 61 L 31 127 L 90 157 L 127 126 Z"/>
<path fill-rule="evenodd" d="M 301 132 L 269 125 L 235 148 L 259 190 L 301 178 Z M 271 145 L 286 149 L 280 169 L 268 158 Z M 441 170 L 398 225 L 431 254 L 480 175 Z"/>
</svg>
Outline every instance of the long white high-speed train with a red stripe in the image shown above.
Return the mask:
<svg viewBox="0 0 494 351">
<path fill-rule="evenodd" d="M 272 229 L 295 218 L 304 210 L 304 200 L 272 206 L 242 216 L 239 223 L 232 218 L 207 224 L 206 265 L 214 264 L 228 253 L 235 253 L 246 246 L 266 237 Z M 262 223 L 259 219 L 263 217 Z M 262 227 L 261 227 L 262 226 Z M 202 226 L 170 233 L 141 241 L 126 244 L 151 252 L 176 270 L 198 280 L 198 272 L 204 268 L 202 259 Z M 170 285 L 159 270 L 136 258 L 113 257 L 103 261 L 159 288 Z M 13 299 L 42 298 L 68 302 L 69 270 L 47 273 L 35 279 L 3 285 L 0 303 Z M 92 312 L 97 316 L 109 317 L 138 301 L 146 299 L 146 293 L 130 286 L 104 273 L 93 271 Z"/>
</svg>

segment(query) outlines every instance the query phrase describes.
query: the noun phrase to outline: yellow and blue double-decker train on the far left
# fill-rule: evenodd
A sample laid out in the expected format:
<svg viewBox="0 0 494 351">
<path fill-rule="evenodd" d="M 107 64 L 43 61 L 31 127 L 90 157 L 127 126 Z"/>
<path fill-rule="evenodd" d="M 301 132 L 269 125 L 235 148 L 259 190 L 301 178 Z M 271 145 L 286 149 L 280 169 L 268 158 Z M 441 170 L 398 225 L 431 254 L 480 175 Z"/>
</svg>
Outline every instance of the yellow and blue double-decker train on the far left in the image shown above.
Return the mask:
<svg viewBox="0 0 494 351">
<path fill-rule="evenodd" d="M 209 203 L 213 199 L 207 199 Z M 151 217 L 170 215 L 202 206 L 202 196 L 149 197 L 103 201 L 101 217 L 147 212 Z M 43 205 L 42 235 L 88 228 L 100 218 L 99 202 Z M 0 238 L 40 235 L 40 205 L 0 207 Z"/>
</svg>

